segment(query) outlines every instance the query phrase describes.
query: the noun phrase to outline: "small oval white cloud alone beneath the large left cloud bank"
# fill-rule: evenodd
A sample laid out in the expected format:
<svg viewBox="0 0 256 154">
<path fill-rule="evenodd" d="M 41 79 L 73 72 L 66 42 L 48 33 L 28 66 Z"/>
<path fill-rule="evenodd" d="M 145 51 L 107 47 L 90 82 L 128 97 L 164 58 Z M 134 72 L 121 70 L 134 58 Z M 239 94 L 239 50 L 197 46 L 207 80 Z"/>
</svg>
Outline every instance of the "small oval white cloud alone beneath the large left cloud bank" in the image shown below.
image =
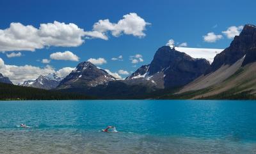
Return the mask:
<svg viewBox="0 0 256 154">
<path fill-rule="evenodd" d="M 50 55 L 50 58 L 54 60 L 79 61 L 79 57 L 70 51 L 54 52 Z"/>
</svg>

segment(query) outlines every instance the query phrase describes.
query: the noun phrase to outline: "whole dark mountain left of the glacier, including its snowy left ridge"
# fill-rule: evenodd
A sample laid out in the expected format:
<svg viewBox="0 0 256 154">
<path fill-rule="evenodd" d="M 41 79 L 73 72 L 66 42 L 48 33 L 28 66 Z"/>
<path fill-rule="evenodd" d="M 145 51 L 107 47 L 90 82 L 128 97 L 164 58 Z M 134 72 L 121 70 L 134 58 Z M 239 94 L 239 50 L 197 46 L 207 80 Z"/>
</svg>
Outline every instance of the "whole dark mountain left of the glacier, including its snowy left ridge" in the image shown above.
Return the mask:
<svg viewBox="0 0 256 154">
<path fill-rule="evenodd" d="M 164 46 L 157 50 L 153 61 L 149 66 L 147 65 L 147 72 L 145 72 L 146 67 L 143 66 L 125 81 L 131 82 L 131 79 L 136 79 L 137 82 L 148 81 L 157 88 L 178 87 L 202 75 L 209 66 L 206 59 L 191 58 L 184 52 Z M 136 84 L 136 82 L 132 83 Z"/>
</svg>

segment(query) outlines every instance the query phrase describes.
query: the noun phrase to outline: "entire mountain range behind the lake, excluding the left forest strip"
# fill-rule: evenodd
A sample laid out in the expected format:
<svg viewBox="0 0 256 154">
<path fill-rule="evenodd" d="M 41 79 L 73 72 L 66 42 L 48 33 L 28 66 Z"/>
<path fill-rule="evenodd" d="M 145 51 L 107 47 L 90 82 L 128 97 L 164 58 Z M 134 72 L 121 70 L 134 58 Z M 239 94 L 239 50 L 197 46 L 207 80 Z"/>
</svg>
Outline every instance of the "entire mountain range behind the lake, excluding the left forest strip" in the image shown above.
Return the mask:
<svg viewBox="0 0 256 154">
<path fill-rule="evenodd" d="M 96 98 L 255 98 L 255 72 L 256 27 L 246 24 L 211 64 L 206 59 L 191 58 L 175 47 L 163 46 L 150 64 L 141 66 L 124 80 L 84 61 L 63 80 L 56 74 L 40 75 L 20 86 Z M 0 74 L 0 82 L 8 81 Z"/>
</svg>

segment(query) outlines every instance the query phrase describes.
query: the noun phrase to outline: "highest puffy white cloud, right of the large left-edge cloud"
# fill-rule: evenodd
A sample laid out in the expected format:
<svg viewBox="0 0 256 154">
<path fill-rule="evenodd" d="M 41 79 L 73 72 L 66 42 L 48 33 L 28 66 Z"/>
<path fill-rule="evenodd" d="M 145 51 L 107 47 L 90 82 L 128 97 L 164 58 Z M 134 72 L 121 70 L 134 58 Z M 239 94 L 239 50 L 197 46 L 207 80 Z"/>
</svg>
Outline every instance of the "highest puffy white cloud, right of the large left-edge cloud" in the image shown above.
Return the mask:
<svg viewBox="0 0 256 154">
<path fill-rule="evenodd" d="M 112 23 L 109 19 L 99 20 L 93 25 L 93 31 L 98 31 L 104 35 L 111 31 L 111 34 L 116 37 L 122 34 L 138 37 L 146 36 L 144 31 L 150 23 L 138 16 L 137 13 L 129 13 L 123 17 L 117 23 Z"/>
</svg>

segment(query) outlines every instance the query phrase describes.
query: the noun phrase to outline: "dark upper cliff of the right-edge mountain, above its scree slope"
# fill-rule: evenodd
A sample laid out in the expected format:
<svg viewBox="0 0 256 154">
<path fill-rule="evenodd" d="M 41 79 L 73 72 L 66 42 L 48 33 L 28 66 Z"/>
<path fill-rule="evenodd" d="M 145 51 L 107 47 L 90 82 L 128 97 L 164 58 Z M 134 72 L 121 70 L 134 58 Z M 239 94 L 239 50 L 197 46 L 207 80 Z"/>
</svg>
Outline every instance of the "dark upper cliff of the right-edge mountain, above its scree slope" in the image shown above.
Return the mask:
<svg viewBox="0 0 256 154">
<path fill-rule="evenodd" d="M 232 65 L 236 63 L 237 60 L 246 55 L 246 52 L 251 52 L 250 55 L 253 54 L 251 49 L 255 48 L 256 26 L 247 24 L 244 26 L 240 35 L 235 36 L 234 40 L 230 43 L 230 46 L 220 54 L 217 54 L 211 67 L 205 72 L 205 74 L 218 70 L 222 65 Z"/>
</svg>

